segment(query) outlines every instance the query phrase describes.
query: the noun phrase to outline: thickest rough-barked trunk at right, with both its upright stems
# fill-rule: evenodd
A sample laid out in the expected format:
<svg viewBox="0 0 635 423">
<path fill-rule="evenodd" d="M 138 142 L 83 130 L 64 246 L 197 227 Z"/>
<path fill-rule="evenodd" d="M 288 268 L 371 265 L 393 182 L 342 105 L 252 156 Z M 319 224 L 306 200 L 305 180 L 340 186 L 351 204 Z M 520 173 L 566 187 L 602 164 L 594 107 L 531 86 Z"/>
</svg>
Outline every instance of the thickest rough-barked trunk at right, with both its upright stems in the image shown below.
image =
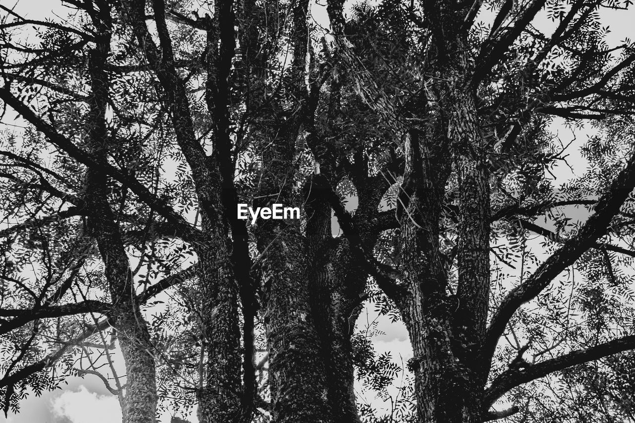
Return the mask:
<svg viewBox="0 0 635 423">
<path fill-rule="evenodd" d="M 406 147 L 400 264 L 409 295 L 398 304 L 413 347 L 417 419 L 480 422 L 486 375 L 479 349 L 485 335 L 489 269 L 489 182 L 475 93 L 469 86 L 465 6 L 422 6 L 432 27 L 427 128 L 413 128 Z M 439 248 L 441 205 L 450 171 L 458 177 L 456 250 Z M 451 201 L 451 199 L 450 199 Z M 457 256 L 457 292 L 448 266 Z"/>
</svg>

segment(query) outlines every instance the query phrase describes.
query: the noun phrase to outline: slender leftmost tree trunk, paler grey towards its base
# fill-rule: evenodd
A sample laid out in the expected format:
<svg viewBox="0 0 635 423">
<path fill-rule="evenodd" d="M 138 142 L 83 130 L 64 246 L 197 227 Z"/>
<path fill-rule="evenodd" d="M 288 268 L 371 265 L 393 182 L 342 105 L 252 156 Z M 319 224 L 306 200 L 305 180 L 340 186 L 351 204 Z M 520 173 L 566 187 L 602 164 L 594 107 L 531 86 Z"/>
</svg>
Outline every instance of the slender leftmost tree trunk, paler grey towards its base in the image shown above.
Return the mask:
<svg viewBox="0 0 635 423">
<path fill-rule="evenodd" d="M 100 2 L 100 13 L 93 18 L 98 30 L 96 46 L 90 52 L 89 72 L 91 96 L 89 111 L 88 144 L 90 151 L 105 159 L 109 137 L 105 126 L 105 111 L 109 91 L 109 78 L 105 63 L 110 49 L 110 8 Z M 86 180 L 86 205 L 90 210 L 88 225 L 90 234 L 97 239 L 99 252 L 104 260 L 105 275 L 112 299 L 112 325 L 117 330 L 119 346 L 126 363 L 126 396 L 124 423 L 154 423 L 156 416 L 156 373 L 152 345 L 145 319 L 141 316 L 128 257 L 115 216 L 108 202 L 107 177 L 98 170 L 89 169 Z"/>
</svg>

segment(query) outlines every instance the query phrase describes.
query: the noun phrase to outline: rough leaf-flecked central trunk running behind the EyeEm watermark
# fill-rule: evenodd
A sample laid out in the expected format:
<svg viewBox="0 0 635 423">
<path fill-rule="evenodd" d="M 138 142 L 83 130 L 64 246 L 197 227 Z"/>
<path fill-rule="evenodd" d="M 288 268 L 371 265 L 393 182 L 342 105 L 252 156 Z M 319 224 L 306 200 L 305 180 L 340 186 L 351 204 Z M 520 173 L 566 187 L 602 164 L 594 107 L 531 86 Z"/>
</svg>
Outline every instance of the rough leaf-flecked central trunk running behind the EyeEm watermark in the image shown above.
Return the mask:
<svg viewBox="0 0 635 423">
<path fill-rule="evenodd" d="M 293 192 L 288 168 L 295 153 L 300 121 L 283 121 L 274 131 L 262 182 L 265 198 L 302 205 Z M 271 194 L 271 195 L 267 195 Z M 271 203 L 262 204 L 269 206 Z M 269 354 L 269 389 L 274 423 L 330 421 L 324 358 L 311 308 L 311 261 L 307 258 L 300 220 L 260 220 L 256 231 L 260 261 L 263 320 Z"/>
</svg>

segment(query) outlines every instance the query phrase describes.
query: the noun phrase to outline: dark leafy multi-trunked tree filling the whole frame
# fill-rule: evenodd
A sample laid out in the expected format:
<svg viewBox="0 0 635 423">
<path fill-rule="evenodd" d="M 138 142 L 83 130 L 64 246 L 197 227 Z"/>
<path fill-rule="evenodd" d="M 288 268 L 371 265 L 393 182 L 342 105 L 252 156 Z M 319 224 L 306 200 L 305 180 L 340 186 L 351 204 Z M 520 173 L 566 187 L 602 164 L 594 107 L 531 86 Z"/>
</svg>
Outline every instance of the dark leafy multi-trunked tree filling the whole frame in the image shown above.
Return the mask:
<svg viewBox="0 0 635 423">
<path fill-rule="evenodd" d="M 0 328 L 21 345 L 0 380 L 5 410 L 27 386 L 57 380 L 43 370 L 69 356 L 66 345 L 112 326 L 126 422 L 153 421 L 164 389 L 194 393 L 204 422 L 359 421 L 355 366 L 394 371 L 369 365 L 371 349 L 354 337 L 371 298 L 408 329 L 416 421 L 538 421 L 563 404 L 568 419 L 594 407 L 597 419 L 629 418 L 630 355 L 620 353 L 635 346 L 622 258 L 634 255 L 635 54 L 628 40 L 608 45 L 601 25 L 603 10 L 622 5 L 390 0 L 345 17 L 344 2 L 330 1 L 327 34 L 307 1 L 218 2 L 206 13 L 163 0 L 65 4 L 72 24 L 2 6 L 0 98 L 38 131 L 3 152 L 20 166 L 3 174 L 20 193 L 7 196 L 17 223 L 3 236 L 29 234 L 5 246 L 11 319 Z M 43 29 L 39 45 L 20 40 L 25 25 Z M 589 174 L 563 187 L 549 175 L 568 148 L 552 137 L 554 117 L 595 131 L 583 149 Z M 54 170 L 31 144 L 51 147 Z M 238 203 L 298 206 L 302 218 L 248 225 Z M 588 216 L 572 222 L 572 208 Z M 57 241 L 68 225 L 98 254 L 68 253 L 73 244 Z M 548 257 L 530 233 L 547 239 Z M 126 248 L 147 274 L 131 271 Z M 64 258 L 24 283 L 16 276 L 39 252 Z M 102 263 L 101 286 L 79 270 L 88 257 Z M 196 264 L 182 271 L 186 262 Z M 582 271 L 582 287 L 559 278 L 567 269 Z M 77 292 L 102 297 L 77 302 L 65 283 L 75 278 Z M 180 308 L 144 316 L 173 286 Z M 575 312 L 590 323 L 573 324 Z M 76 325 L 67 316 L 90 313 L 107 319 L 64 338 Z M 183 317 L 170 333 L 166 316 Z M 552 335 L 540 333 L 547 323 Z M 52 326 L 65 344 L 44 354 L 34 340 Z M 578 393 L 523 397 L 553 374 Z M 503 396 L 518 403 L 491 410 Z"/>
</svg>

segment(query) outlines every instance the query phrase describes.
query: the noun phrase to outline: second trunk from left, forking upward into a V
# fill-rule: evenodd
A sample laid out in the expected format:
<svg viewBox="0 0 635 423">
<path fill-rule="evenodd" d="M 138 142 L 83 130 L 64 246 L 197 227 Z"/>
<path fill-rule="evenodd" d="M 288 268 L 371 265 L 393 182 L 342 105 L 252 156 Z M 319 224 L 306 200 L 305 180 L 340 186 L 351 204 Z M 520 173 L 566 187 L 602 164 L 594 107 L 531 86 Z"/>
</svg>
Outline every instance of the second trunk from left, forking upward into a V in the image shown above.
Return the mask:
<svg viewBox="0 0 635 423">
<path fill-rule="evenodd" d="M 189 99 L 185 92 L 185 83 L 178 75 L 168 27 L 166 25 L 166 10 L 163 0 L 153 0 L 157 24 L 159 44 L 152 41 L 145 24 L 145 0 L 125 2 L 130 6 L 128 21 L 135 32 L 138 43 L 144 50 L 145 57 L 159 79 L 159 95 L 164 96 L 165 104 L 170 110 L 171 122 L 175 131 L 177 143 L 182 149 L 185 159 L 192 171 L 192 178 L 196 187 L 196 196 L 201 208 L 204 240 L 196 245 L 201 266 L 199 267 L 199 290 L 203 294 L 201 321 L 203 325 L 203 346 L 206 352 L 206 372 L 203 386 L 197 392 L 199 401 L 198 417 L 204 423 L 237 422 L 248 420 L 250 412 L 242 413 L 241 405 L 243 392 L 241 387 L 241 347 L 238 328 L 237 283 L 231 266 L 231 252 L 229 248 L 229 227 L 224 212 L 224 198 L 227 190 L 225 185 L 233 175 L 225 175 L 219 169 L 219 161 L 232 163 L 229 149 L 225 146 L 229 124 L 227 104 L 223 103 L 213 110 L 217 133 L 215 149 L 224 152 L 218 158 L 218 153 L 209 157 L 194 133 L 192 112 Z M 231 4 L 229 5 L 231 9 Z M 218 6 L 218 5 L 217 5 Z M 221 6 L 220 11 L 223 11 Z M 217 11 L 219 9 L 217 8 Z M 226 18 L 226 17 L 225 17 Z M 229 22 L 231 26 L 231 22 Z M 209 20 L 206 25 L 211 25 Z M 210 27 L 211 30 L 211 27 Z M 233 37 L 233 33 L 230 34 Z M 233 40 L 232 40 L 233 41 Z M 227 40 L 223 44 L 225 50 Z M 229 69 L 233 47 L 229 53 L 223 53 L 221 58 L 223 69 Z M 226 63 L 229 60 L 229 63 Z M 208 76 L 211 78 L 211 76 Z M 227 75 L 225 75 L 226 79 Z M 218 87 L 221 88 L 220 86 Z M 220 93 L 218 99 L 225 98 L 227 93 Z M 224 179 L 222 177 L 225 177 Z M 234 234 L 235 238 L 239 235 Z M 242 250 L 240 251 L 243 252 Z M 251 306 L 251 304 L 248 304 Z M 249 371 L 247 368 L 246 371 Z"/>
</svg>

